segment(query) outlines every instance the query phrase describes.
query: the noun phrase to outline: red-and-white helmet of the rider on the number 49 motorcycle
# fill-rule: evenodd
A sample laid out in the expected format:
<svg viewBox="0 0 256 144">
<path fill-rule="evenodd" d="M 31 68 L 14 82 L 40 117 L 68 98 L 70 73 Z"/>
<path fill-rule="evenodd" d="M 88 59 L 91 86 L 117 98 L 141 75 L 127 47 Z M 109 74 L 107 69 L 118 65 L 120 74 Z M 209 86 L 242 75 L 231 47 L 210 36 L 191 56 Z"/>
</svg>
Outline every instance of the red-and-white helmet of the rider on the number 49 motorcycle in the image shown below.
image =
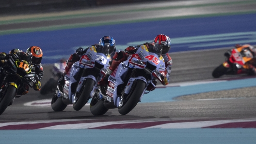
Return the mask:
<svg viewBox="0 0 256 144">
<path fill-rule="evenodd" d="M 164 34 L 159 34 L 154 39 L 154 47 L 153 48 L 157 51 L 160 51 L 161 47 L 162 47 L 161 54 L 168 53 L 171 48 L 171 39 Z"/>
</svg>

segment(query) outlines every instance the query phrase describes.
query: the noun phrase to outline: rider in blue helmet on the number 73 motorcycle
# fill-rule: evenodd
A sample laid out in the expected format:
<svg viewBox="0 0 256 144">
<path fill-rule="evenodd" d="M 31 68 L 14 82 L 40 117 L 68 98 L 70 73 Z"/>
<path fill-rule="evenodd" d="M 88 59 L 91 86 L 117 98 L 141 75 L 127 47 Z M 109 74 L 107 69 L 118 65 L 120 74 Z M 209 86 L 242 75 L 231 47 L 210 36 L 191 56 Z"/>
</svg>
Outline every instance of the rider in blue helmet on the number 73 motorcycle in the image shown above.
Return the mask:
<svg viewBox="0 0 256 144">
<path fill-rule="evenodd" d="M 70 55 L 70 57 L 67 60 L 67 65 L 65 67 L 64 73 L 62 75 L 62 77 L 60 78 L 59 82 L 58 82 L 58 87 L 60 89 L 60 91 L 63 92 L 63 87 L 64 87 L 64 76 L 66 75 L 66 73 L 70 70 L 70 68 L 72 67 L 72 65 L 79 61 L 81 56 L 84 55 L 86 53 L 86 51 L 92 47 L 95 46 L 96 47 L 96 51 L 98 53 L 103 53 L 103 54 L 110 54 L 111 58 L 113 57 L 113 55 L 115 54 L 116 48 L 115 48 L 115 41 L 111 36 L 104 36 L 99 40 L 99 43 L 96 43 L 94 45 L 91 45 L 89 47 L 87 47 L 86 49 L 83 48 L 78 48 L 76 50 L 76 53 Z M 108 52 L 106 52 L 108 51 Z"/>
</svg>

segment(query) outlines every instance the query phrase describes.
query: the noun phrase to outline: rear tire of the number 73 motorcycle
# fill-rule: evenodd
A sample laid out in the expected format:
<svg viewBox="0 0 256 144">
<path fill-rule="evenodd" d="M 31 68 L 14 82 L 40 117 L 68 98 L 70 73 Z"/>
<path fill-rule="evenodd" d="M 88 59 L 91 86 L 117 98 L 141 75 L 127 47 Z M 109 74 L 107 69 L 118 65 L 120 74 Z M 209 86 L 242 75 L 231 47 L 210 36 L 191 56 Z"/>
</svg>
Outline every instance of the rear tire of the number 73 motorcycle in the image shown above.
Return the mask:
<svg viewBox="0 0 256 144">
<path fill-rule="evenodd" d="M 55 92 L 54 96 L 51 99 L 51 108 L 53 111 L 59 112 L 63 111 L 67 107 L 66 104 L 63 103 L 62 98 L 57 96 Z"/>
</svg>

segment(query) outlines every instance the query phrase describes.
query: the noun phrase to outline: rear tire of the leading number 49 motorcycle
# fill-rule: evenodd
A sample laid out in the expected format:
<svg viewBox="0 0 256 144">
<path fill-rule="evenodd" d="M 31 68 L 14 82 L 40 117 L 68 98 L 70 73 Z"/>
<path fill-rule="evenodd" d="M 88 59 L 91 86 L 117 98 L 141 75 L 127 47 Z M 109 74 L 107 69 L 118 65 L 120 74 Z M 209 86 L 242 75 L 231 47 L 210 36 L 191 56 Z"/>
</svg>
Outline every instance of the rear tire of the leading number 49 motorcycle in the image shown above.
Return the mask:
<svg viewBox="0 0 256 144">
<path fill-rule="evenodd" d="M 94 95 L 90 103 L 90 111 L 93 115 L 104 115 L 109 109 L 104 106 L 104 101 Z"/>
</svg>

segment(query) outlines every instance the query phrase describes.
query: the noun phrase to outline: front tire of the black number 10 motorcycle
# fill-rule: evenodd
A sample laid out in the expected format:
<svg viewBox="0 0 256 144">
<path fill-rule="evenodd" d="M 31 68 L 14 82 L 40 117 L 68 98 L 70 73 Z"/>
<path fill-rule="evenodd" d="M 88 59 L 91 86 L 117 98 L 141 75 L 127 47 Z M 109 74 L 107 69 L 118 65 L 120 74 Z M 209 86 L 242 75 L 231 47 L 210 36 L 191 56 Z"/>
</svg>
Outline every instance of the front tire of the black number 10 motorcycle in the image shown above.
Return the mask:
<svg viewBox="0 0 256 144">
<path fill-rule="evenodd" d="M 0 115 L 5 111 L 8 105 L 12 102 L 16 94 L 16 87 L 9 85 L 6 93 L 0 95 Z"/>
</svg>

